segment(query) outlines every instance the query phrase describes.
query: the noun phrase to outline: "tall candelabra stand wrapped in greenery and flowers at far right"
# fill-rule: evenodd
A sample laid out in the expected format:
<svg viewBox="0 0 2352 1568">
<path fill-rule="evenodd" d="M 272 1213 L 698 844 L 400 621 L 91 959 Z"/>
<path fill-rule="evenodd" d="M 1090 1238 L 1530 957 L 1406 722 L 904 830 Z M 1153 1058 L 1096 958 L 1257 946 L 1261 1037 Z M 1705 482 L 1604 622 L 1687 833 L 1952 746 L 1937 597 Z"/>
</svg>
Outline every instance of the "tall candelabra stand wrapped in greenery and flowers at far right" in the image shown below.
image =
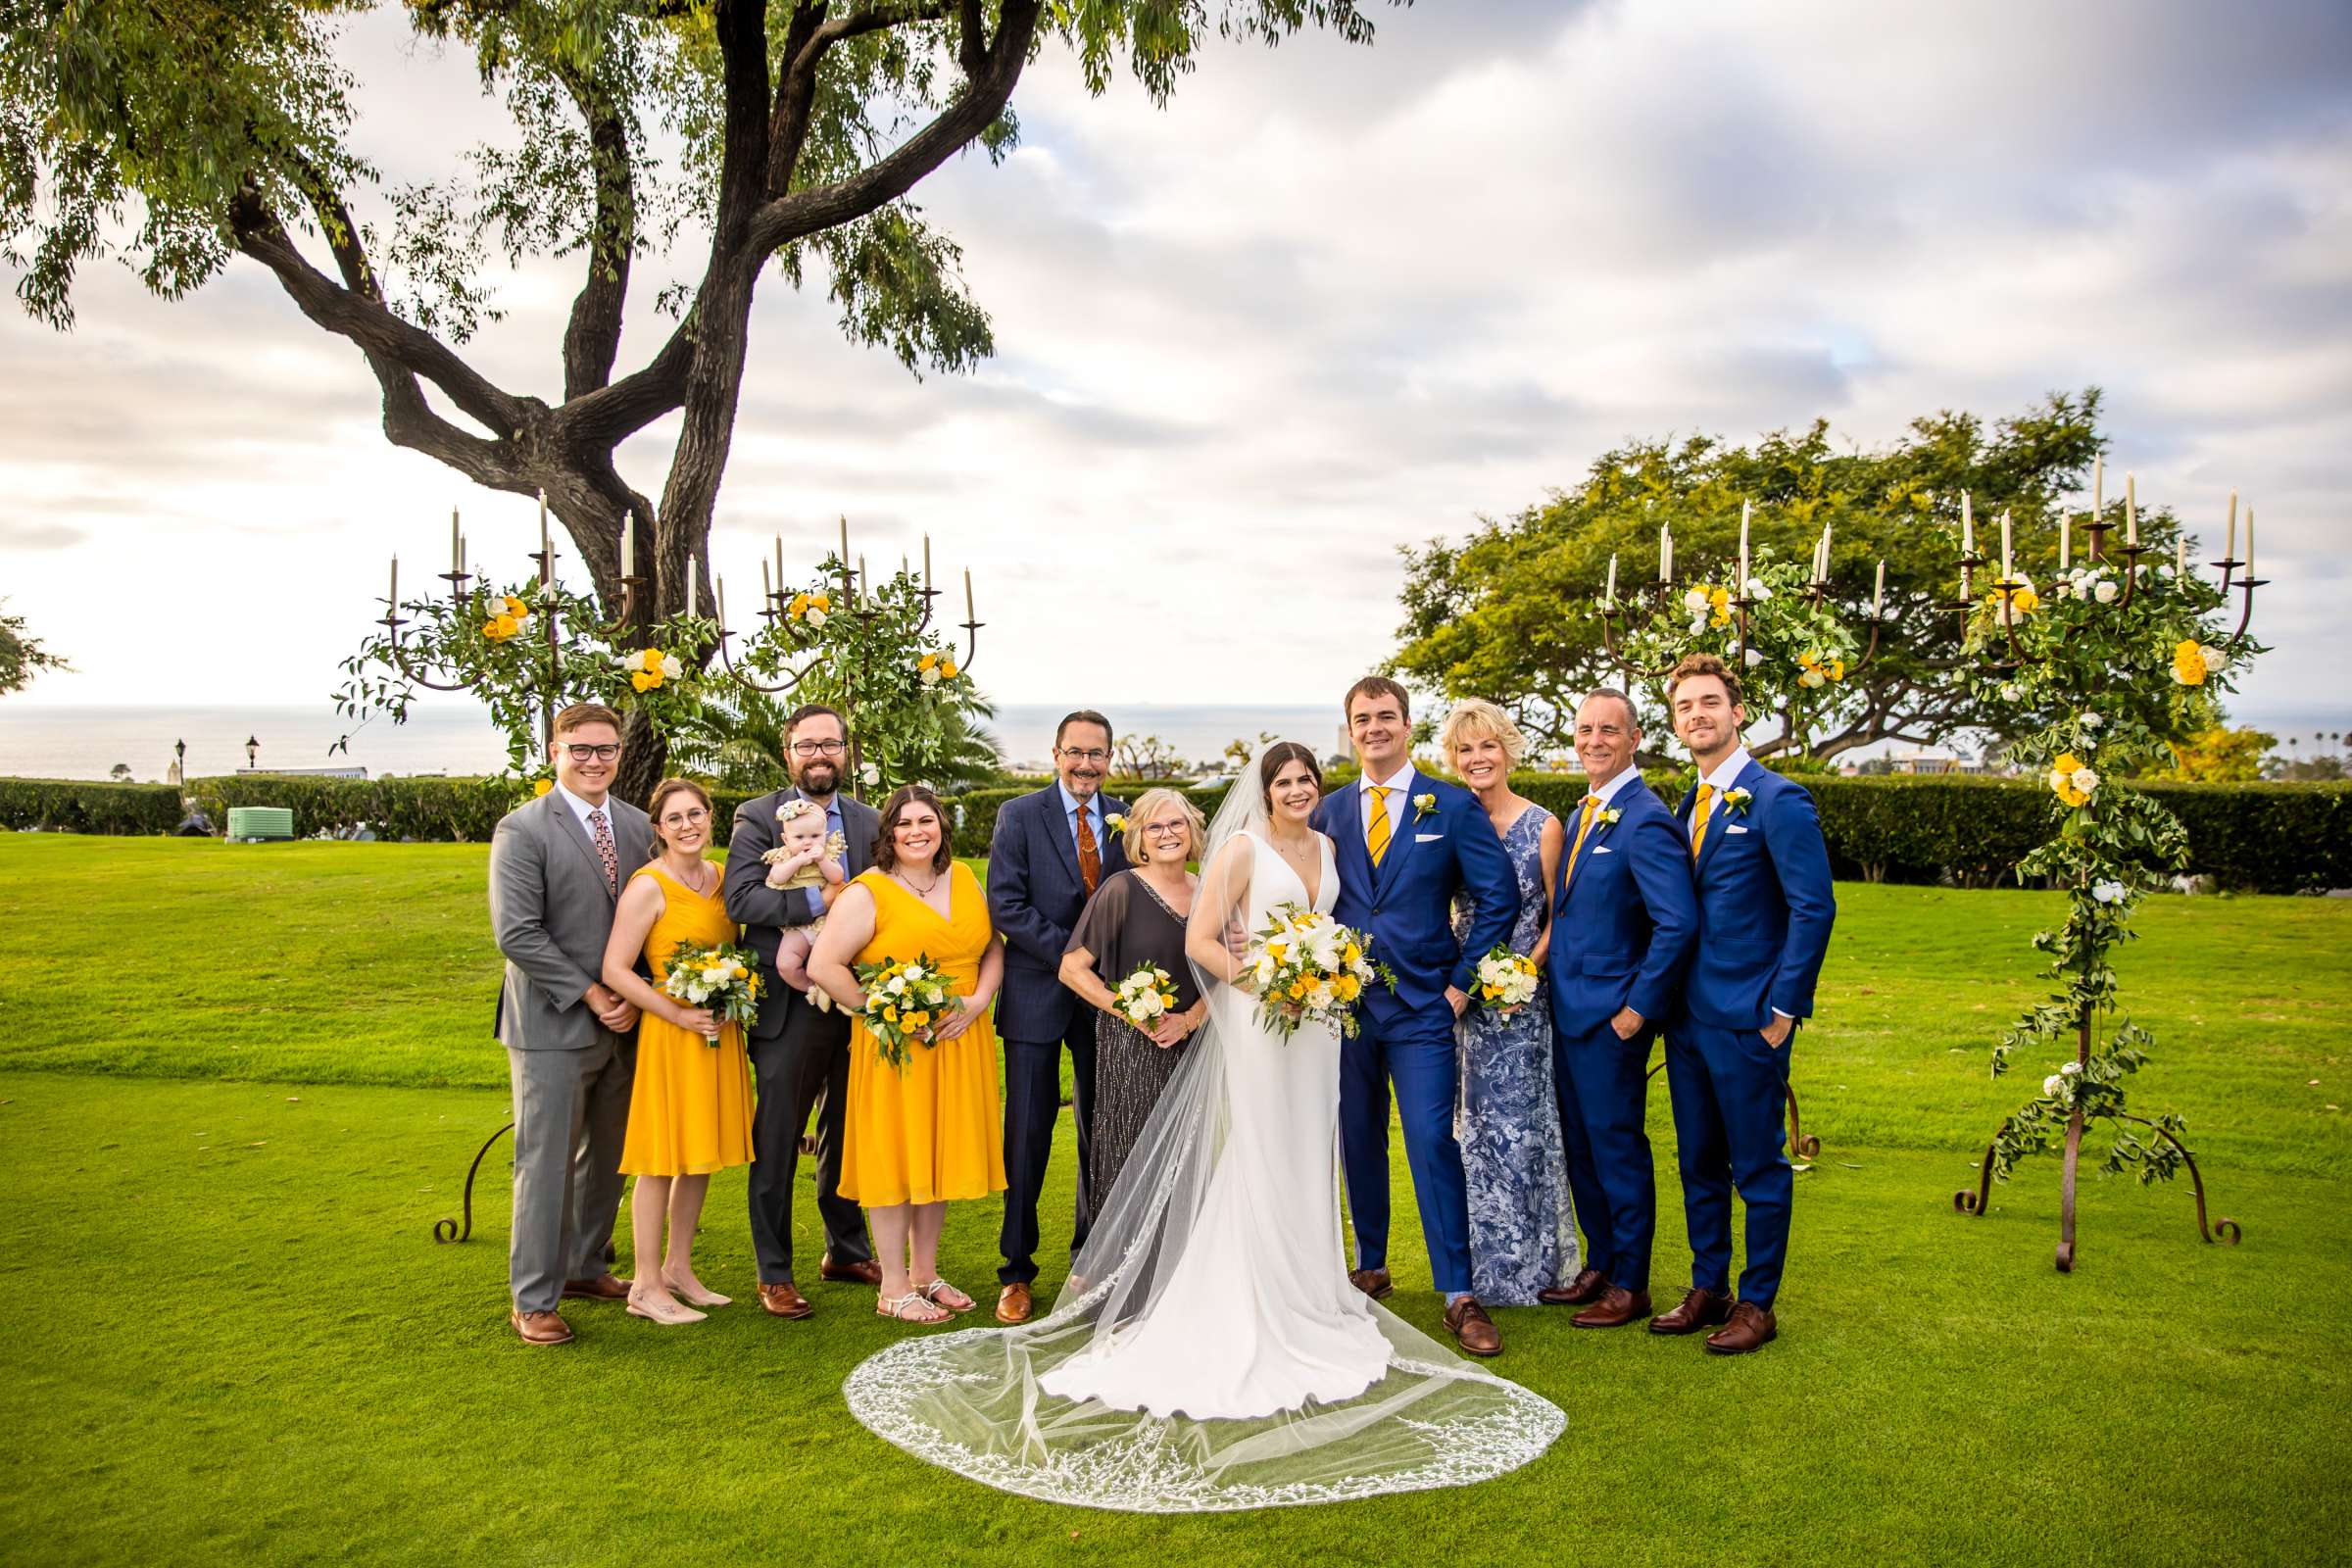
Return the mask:
<svg viewBox="0 0 2352 1568">
<path fill-rule="evenodd" d="M 2246 512 L 2246 557 L 2237 557 L 2237 496 L 2230 496 L 2227 545 L 2213 562 L 2218 581 L 2190 564 L 2178 536 L 2171 559 L 2140 543 L 2138 494 L 2124 482 L 2122 545 L 2105 505 L 2105 463 L 2093 468 L 2086 548 L 2074 559 L 2074 520 L 2060 515 L 2058 569 L 2034 585 L 2018 569 L 2011 522 L 1999 520 L 1999 576 L 1976 592 L 1976 574 L 1994 559 L 1976 548 L 1976 520 L 1962 498 L 1959 597 L 1945 609 L 1966 616 L 1966 679 L 1983 696 L 2009 705 L 2032 726 L 2011 757 L 2044 769 L 2051 795 L 2051 837 L 2018 863 L 2018 879 L 2049 879 L 2067 893 L 2063 926 L 2039 931 L 2049 954 L 2049 994 L 2002 1032 L 1992 1077 L 2013 1058 L 2067 1053 L 2042 1079 L 2042 1093 L 2002 1121 L 1978 1171 L 1978 1185 L 1952 1194 L 1959 1213 L 1985 1213 L 1992 1180 L 2009 1180 L 2032 1154 L 2063 1150 L 2058 1269 L 2074 1267 L 2074 1180 L 2084 1133 L 2105 1124 L 2105 1173 L 2136 1173 L 2143 1182 L 2190 1173 L 2197 1190 L 2197 1229 L 2237 1241 L 2234 1220 L 2206 1222 L 2204 1175 L 2190 1157 L 2187 1124 L 2171 1112 L 2133 1114 L 2124 1086 L 2147 1063 L 2154 1034 L 2122 1009 L 2110 952 L 2131 940 L 2131 914 L 2161 877 L 2187 865 L 2187 832 L 2145 792 L 2114 780 L 2159 764 L 2173 741 L 2209 726 L 2263 646 L 2246 635 L 2253 621 L 2253 512 Z M 2157 559 L 2145 559 L 2157 557 Z M 2239 576 L 2244 574 L 2244 576 Z M 2234 632 L 2230 595 L 2241 597 Z"/>
</svg>

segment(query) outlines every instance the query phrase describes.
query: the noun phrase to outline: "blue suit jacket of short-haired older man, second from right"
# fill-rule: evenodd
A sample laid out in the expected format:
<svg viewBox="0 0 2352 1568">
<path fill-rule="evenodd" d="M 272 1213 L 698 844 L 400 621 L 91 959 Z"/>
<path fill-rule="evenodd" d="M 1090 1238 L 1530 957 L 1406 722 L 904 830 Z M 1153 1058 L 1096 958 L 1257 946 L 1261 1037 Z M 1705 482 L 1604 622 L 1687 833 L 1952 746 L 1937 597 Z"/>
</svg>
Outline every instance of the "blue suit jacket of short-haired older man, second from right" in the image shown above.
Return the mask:
<svg viewBox="0 0 2352 1568">
<path fill-rule="evenodd" d="M 1665 1023 L 1698 943 L 1691 849 L 1675 813 L 1639 776 L 1618 785 L 1616 823 L 1592 823 L 1576 865 L 1552 889 L 1552 1020 L 1590 1034 L 1618 1009 Z M 1562 820 L 1576 844 L 1576 816 Z"/>
</svg>

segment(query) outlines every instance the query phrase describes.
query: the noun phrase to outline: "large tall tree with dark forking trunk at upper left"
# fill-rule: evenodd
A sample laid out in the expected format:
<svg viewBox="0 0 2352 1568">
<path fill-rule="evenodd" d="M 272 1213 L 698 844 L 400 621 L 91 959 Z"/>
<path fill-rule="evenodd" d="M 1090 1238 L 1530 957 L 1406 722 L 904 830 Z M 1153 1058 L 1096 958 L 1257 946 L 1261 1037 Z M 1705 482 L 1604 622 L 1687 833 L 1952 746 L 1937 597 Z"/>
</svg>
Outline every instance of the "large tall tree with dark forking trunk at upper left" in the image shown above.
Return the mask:
<svg viewBox="0 0 2352 1568">
<path fill-rule="evenodd" d="M 419 38 L 473 54 L 513 134 L 386 188 L 358 139 L 367 82 L 336 47 L 372 9 L 0 0 L 0 256 L 16 296 L 64 329 L 89 261 L 118 259 L 165 299 L 233 259 L 266 268 L 358 350 L 393 444 L 546 494 L 604 616 L 635 512 L 647 623 L 706 609 L 684 602 L 687 562 L 706 555 L 771 263 L 797 284 L 814 259 L 851 341 L 908 369 L 967 369 L 990 353 L 988 315 L 908 197 L 964 148 L 1014 146 L 1011 94 L 1047 42 L 1091 92 L 1124 68 L 1167 101 L 1209 38 L 1371 40 L 1355 0 L 405 0 Z M 682 150 L 663 160 L 656 143 Z M 550 346 L 555 402 L 461 353 L 496 317 L 480 282 L 492 252 L 579 268 Z M 675 320 L 621 369 L 640 266 L 670 273 L 656 296 Z M 656 501 L 616 451 L 670 418 Z M 661 757 L 633 724 L 621 788 L 649 785 Z"/>
</svg>

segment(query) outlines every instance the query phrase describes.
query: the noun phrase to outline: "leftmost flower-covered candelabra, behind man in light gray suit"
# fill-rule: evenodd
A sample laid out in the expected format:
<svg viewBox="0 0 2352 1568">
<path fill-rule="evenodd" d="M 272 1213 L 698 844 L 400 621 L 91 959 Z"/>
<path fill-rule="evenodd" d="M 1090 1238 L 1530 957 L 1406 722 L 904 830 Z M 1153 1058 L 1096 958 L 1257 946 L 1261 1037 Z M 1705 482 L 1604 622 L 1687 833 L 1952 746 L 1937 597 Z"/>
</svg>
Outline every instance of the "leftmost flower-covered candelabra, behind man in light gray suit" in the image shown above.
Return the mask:
<svg viewBox="0 0 2352 1568">
<path fill-rule="evenodd" d="M 393 557 L 381 632 L 343 661 L 336 712 L 367 719 L 376 712 L 405 724 L 419 691 L 466 691 L 489 708 L 506 731 L 508 764 L 546 778 L 546 748 L 555 710 L 593 701 L 642 712 L 661 733 L 701 712 L 699 661 L 682 656 L 708 646 L 717 625 L 696 614 L 640 625 L 635 515 L 621 531 L 621 614 L 604 621 L 595 599 L 555 576 L 548 498 L 539 496 L 534 576 L 499 588 L 466 569 L 466 536 L 449 512 L 447 595 L 400 597 L 400 557 Z M 687 562 L 687 604 L 696 599 L 696 567 Z M 623 646 L 626 639 L 626 646 Z"/>
</svg>

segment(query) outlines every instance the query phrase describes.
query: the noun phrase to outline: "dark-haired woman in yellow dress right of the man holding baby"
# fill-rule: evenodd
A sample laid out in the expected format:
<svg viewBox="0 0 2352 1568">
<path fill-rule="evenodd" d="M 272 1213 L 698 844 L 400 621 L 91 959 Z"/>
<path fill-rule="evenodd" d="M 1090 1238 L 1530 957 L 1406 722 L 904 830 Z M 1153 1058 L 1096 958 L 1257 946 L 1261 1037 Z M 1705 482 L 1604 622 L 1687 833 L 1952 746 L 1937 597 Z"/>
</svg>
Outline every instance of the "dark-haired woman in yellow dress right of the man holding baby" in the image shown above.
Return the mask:
<svg viewBox="0 0 2352 1568">
<path fill-rule="evenodd" d="M 938 797 L 906 785 L 882 806 L 873 870 L 826 914 L 809 978 L 856 1020 L 866 992 L 851 964 L 917 957 L 938 966 L 964 1004 L 929 1027 L 929 1046 L 915 1046 L 903 1067 L 884 1063 L 863 1023 L 851 1023 L 842 1197 L 863 1204 L 875 1229 L 875 1312 L 943 1324 L 971 1309 L 971 1298 L 938 1276 L 948 1199 L 1004 1192 L 997 1032 L 988 1020 L 1004 945 L 978 877 L 955 863 Z"/>
</svg>

